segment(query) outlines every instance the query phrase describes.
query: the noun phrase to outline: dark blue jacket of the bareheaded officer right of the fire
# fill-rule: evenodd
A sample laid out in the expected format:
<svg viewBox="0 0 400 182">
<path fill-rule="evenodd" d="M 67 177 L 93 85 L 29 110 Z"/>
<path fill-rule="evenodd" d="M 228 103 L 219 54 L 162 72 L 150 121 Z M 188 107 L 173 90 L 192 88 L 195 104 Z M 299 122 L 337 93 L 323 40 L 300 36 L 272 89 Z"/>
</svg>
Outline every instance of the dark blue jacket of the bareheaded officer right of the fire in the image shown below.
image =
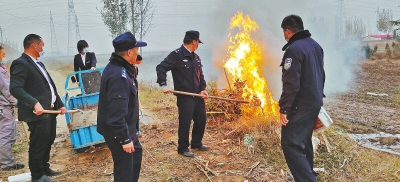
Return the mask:
<svg viewBox="0 0 400 182">
<path fill-rule="evenodd" d="M 324 97 L 324 51 L 308 30 L 294 34 L 282 59 L 280 112 L 307 110 L 322 106 Z"/>
</svg>

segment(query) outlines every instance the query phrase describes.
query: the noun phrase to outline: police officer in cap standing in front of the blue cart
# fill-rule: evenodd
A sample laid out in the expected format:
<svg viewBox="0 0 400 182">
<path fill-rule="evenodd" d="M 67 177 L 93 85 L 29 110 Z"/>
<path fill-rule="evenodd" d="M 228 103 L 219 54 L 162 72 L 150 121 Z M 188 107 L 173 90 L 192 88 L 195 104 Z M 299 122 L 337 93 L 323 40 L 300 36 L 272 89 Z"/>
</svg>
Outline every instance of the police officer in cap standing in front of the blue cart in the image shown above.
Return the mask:
<svg viewBox="0 0 400 182">
<path fill-rule="evenodd" d="M 138 42 L 130 32 L 113 40 L 115 52 L 104 68 L 97 113 L 97 131 L 111 151 L 114 161 L 114 181 L 138 181 L 142 148 L 136 135 L 139 120 L 139 100 L 136 62 Z"/>
</svg>

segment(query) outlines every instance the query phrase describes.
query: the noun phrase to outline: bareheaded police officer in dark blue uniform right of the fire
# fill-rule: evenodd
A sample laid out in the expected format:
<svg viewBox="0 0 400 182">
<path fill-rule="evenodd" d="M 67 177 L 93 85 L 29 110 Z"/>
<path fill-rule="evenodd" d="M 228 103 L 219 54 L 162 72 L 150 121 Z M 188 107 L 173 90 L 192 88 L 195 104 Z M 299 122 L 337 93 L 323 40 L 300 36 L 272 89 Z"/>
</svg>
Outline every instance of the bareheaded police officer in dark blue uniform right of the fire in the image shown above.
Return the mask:
<svg viewBox="0 0 400 182">
<path fill-rule="evenodd" d="M 279 99 L 282 150 L 295 181 L 317 181 L 311 139 L 324 97 L 324 52 L 299 16 L 285 17 L 281 27 L 288 41 L 282 48 Z"/>
</svg>

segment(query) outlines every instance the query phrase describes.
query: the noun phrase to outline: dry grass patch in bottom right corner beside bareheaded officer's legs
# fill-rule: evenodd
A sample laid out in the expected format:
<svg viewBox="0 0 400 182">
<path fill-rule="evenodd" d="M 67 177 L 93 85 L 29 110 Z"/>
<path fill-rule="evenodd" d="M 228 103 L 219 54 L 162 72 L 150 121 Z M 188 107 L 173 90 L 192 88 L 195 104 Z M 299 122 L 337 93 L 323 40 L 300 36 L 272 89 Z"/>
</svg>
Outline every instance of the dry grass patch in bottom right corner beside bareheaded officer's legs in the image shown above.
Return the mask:
<svg viewBox="0 0 400 182">
<path fill-rule="evenodd" d="M 318 150 L 315 166 L 325 168 L 319 181 L 398 181 L 400 158 L 396 155 L 374 151 L 357 145 L 341 128 L 333 126 L 325 131 L 331 153 L 324 146 Z"/>
</svg>

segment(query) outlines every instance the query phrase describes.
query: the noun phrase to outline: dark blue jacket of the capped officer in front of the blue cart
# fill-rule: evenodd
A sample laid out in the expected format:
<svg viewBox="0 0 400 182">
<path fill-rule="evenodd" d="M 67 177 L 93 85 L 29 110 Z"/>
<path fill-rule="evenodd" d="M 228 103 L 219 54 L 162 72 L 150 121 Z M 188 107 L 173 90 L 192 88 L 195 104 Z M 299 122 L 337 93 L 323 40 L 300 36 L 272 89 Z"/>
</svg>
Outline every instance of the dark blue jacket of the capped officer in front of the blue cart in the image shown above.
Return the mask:
<svg viewBox="0 0 400 182">
<path fill-rule="evenodd" d="M 136 136 L 139 120 L 137 81 L 133 65 L 112 54 L 101 76 L 97 131 L 122 145 Z"/>
</svg>

